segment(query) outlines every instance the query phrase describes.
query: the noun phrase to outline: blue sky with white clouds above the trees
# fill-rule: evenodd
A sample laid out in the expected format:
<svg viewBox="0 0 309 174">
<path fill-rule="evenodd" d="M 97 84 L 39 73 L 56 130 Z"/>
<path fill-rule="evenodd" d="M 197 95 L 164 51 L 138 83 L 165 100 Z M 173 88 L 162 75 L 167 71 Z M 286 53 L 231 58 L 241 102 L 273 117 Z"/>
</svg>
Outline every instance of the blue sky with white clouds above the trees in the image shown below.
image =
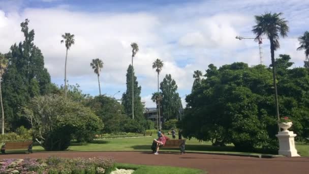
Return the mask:
<svg viewBox="0 0 309 174">
<path fill-rule="evenodd" d="M 185 106 L 191 93 L 193 72 L 205 73 L 209 64 L 218 68 L 233 62 L 258 65 L 259 47 L 254 40 L 254 16 L 265 12 L 283 13 L 289 21 L 288 37 L 280 39 L 275 52 L 290 54 L 293 67 L 302 67 L 303 51 L 296 51 L 297 38 L 309 30 L 309 1 L 303 0 L 0 0 L 0 52 L 23 40 L 20 23 L 28 18 L 35 30 L 35 44 L 42 50 L 52 82 L 64 83 L 66 48 L 61 35 L 75 35 L 68 53 L 69 84 L 80 85 L 83 93 L 99 94 L 92 59 L 104 62 L 100 82 L 102 94 L 120 99 L 126 91 L 126 73 L 131 64 L 132 42 L 140 51 L 134 69 L 146 107 L 157 91 L 156 59 L 164 62 L 160 81 L 171 74 Z M 263 40 L 264 65 L 270 64 L 269 41 Z M 120 91 L 119 93 L 117 93 Z"/>
</svg>

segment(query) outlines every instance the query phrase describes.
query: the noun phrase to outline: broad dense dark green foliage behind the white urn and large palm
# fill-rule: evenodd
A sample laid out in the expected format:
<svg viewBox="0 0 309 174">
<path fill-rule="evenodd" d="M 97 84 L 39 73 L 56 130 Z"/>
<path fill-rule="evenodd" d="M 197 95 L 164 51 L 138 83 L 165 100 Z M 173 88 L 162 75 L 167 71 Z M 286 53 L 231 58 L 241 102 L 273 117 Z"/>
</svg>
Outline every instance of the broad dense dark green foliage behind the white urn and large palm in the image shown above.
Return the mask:
<svg viewBox="0 0 309 174">
<path fill-rule="evenodd" d="M 309 76 L 304 68 L 290 69 L 290 56 L 280 55 L 275 65 L 280 110 L 291 115 L 297 140 L 308 137 Z M 272 97 L 271 69 L 262 65 L 249 68 L 244 63 L 208 66 L 207 79 L 187 96 L 183 135 L 214 144 L 234 143 L 238 149 L 276 149 L 277 119 Z"/>
</svg>

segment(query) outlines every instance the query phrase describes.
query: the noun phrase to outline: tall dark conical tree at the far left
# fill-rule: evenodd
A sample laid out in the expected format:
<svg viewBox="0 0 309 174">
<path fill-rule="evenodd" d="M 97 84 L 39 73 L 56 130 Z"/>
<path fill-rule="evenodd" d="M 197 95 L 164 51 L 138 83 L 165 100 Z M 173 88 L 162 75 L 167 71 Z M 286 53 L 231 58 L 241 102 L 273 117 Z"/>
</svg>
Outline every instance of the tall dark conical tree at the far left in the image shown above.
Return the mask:
<svg viewBox="0 0 309 174">
<path fill-rule="evenodd" d="M 3 75 L 3 98 L 6 120 L 11 128 L 28 126 L 24 118 L 18 117 L 20 108 L 30 98 L 50 93 L 50 75 L 44 68 L 44 57 L 34 44 L 35 32 L 29 30 L 29 20 L 20 24 L 24 41 L 11 46 L 6 54 L 9 65 Z"/>
</svg>

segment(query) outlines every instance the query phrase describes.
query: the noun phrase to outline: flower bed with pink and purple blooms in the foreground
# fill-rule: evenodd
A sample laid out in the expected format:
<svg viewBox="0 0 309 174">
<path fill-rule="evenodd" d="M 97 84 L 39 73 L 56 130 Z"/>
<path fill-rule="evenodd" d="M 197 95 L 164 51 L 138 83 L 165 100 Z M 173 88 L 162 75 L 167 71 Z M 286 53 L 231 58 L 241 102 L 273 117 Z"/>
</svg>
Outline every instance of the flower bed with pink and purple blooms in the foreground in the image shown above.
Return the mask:
<svg viewBox="0 0 309 174">
<path fill-rule="evenodd" d="M 64 159 L 3 159 L 0 160 L 0 173 L 110 173 L 115 169 L 111 158 Z"/>
</svg>

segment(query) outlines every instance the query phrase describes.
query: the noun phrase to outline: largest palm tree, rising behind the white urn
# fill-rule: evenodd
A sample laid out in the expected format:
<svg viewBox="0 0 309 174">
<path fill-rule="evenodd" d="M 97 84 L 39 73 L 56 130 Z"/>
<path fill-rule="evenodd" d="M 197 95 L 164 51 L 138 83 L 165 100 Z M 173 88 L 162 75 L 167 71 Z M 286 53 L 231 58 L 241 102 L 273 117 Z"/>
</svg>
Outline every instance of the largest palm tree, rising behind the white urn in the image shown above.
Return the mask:
<svg viewBox="0 0 309 174">
<path fill-rule="evenodd" d="M 288 21 L 285 18 L 281 18 L 282 13 L 265 13 L 261 16 L 255 16 L 256 25 L 253 26 L 252 32 L 256 35 L 255 40 L 258 41 L 263 35 L 267 36 L 270 41 L 270 54 L 271 54 L 271 66 L 272 66 L 272 78 L 275 91 L 275 105 L 277 119 L 280 120 L 279 104 L 277 95 L 276 75 L 275 75 L 275 62 L 274 51 L 280 48 L 279 36 L 283 38 L 287 36 L 289 32 Z M 280 131 L 280 128 L 279 128 Z"/>
</svg>

